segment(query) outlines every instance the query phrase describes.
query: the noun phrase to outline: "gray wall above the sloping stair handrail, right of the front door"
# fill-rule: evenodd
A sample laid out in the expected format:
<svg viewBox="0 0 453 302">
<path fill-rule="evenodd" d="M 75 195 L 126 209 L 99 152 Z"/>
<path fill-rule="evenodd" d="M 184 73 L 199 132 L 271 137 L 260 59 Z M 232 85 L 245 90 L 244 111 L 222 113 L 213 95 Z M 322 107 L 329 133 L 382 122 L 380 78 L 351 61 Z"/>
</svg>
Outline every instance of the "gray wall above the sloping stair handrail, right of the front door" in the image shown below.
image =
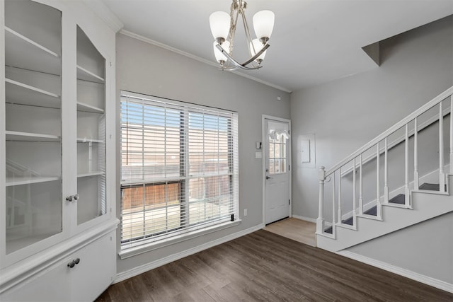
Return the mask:
<svg viewBox="0 0 453 302">
<path fill-rule="evenodd" d="M 318 216 L 318 168 L 330 168 L 453 86 L 453 16 L 381 42 L 382 65 L 291 95 L 293 214 Z M 316 134 L 316 168 L 299 161 Z"/>
</svg>

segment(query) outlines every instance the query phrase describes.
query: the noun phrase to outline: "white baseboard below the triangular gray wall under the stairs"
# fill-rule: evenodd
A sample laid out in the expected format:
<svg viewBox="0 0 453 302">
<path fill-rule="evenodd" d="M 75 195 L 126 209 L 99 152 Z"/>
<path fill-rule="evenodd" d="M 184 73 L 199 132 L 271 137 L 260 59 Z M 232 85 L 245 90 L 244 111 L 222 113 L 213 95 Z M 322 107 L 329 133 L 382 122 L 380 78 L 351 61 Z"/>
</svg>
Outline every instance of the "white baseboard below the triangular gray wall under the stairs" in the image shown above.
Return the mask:
<svg viewBox="0 0 453 302">
<path fill-rule="evenodd" d="M 424 284 L 428 284 L 430 286 L 434 286 L 437 289 L 442 289 L 443 291 L 448 291 L 453 294 L 453 284 L 449 284 L 445 281 L 434 279 L 423 274 L 418 274 L 416 272 L 412 272 L 408 269 L 403 269 L 401 267 L 396 267 L 394 265 L 389 265 L 386 262 L 382 262 L 379 260 L 374 260 L 369 257 L 365 257 L 362 255 L 358 255 L 355 252 L 350 252 L 348 250 L 340 250 L 336 252 L 338 255 L 342 255 L 344 257 L 348 257 L 352 260 L 357 260 L 359 262 L 366 263 L 367 265 L 372 265 L 373 267 L 379 267 L 380 269 L 384 269 L 388 272 L 393 272 L 394 274 L 398 274 L 400 276 L 413 279 L 415 281 L 419 281 Z"/>
</svg>

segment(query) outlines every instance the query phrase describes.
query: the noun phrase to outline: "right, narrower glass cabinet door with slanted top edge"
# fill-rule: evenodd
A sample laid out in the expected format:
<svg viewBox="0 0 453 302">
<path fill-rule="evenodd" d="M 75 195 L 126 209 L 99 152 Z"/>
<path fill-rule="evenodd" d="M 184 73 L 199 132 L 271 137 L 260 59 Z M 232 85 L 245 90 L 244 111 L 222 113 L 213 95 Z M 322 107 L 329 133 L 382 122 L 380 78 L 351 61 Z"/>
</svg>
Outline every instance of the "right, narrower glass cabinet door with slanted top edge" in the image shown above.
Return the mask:
<svg viewBox="0 0 453 302">
<path fill-rule="evenodd" d="M 105 210 L 105 58 L 77 26 L 77 224 Z"/>
</svg>

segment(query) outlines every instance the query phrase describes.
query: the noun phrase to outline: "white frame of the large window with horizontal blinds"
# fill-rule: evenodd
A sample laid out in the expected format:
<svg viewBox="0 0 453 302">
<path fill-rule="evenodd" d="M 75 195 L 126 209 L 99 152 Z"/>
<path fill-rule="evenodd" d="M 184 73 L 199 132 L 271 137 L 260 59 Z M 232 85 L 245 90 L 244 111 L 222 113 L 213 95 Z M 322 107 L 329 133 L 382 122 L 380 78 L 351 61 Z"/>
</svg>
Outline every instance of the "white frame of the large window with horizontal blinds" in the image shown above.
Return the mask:
<svg viewBox="0 0 453 302">
<path fill-rule="evenodd" d="M 239 220 L 239 146 L 238 146 L 238 136 L 239 130 L 237 128 L 238 124 L 238 114 L 237 112 L 233 112 L 230 110 L 222 110 L 218 108 L 212 108 L 208 106 L 202 105 L 195 105 L 192 103 L 185 103 L 178 100 L 168 100 L 165 98 L 158 98 L 151 95 L 142 95 L 139 93 L 131 93 L 129 91 L 121 91 L 120 94 L 120 104 L 125 101 L 125 98 L 133 98 L 139 101 L 149 101 L 150 106 L 156 105 L 159 103 L 162 104 L 169 104 L 175 108 L 180 110 L 180 120 L 179 120 L 179 136 L 180 136 L 180 156 L 179 156 L 179 170 L 180 175 L 178 177 L 174 177 L 173 180 L 171 178 L 166 178 L 163 182 L 157 182 L 156 180 L 146 180 L 143 179 L 141 182 L 137 182 L 136 186 L 143 185 L 144 190 L 149 185 L 162 185 L 162 184 L 169 184 L 171 183 L 180 183 L 180 196 L 185 196 L 184 202 L 180 202 L 180 225 L 177 228 L 166 229 L 161 232 L 151 233 L 149 235 L 138 236 L 137 238 L 129 238 L 123 240 L 123 208 L 122 208 L 122 196 L 123 190 L 130 187 L 130 183 L 123 182 L 122 173 L 120 173 L 120 192 L 121 192 L 121 207 L 120 207 L 120 215 L 121 215 L 121 235 L 120 235 L 120 245 L 121 245 L 121 252 L 120 256 L 130 257 L 130 255 L 136 255 L 137 249 L 147 249 L 149 250 L 158 248 L 161 245 L 167 245 L 171 242 L 180 242 L 181 240 L 187 240 L 189 238 L 193 238 L 194 236 L 200 236 L 202 233 L 210 233 L 211 231 L 215 231 L 216 229 L 221 229 L 229 226 L 234 226 L 239 224 L 241 221 Z M 120 105 L 122 106 L 122 105 Z M 121 111 L 121 110 L 120 110 Z M 217 117 L 225 117 L 227 121 L 227 153 L 226 153 L 226 161 L 228 162 L 228 172 L 227 173 L 217 173 L 214 175 L 205 175 L 205 174 L 194 174 L 190 175 L 190 161 L 189 161 L 189 132 L 190 132 L 190 114 L 201 114 L 202 117 L 205 115 L 210 115 L 210 112 L 214 112 Z M 217 127 L 219 127 L 219 121 L 217 122 Z M 122 137 L 123 125 L 121 122 L 120 117 L 120 137 Z M 205 131 L 205 128 L 202 128 Z M 217 130 L 218 131 L 218 130 Z M 123 146 L 120 143 L 120 150 L 123 152 Z M 164 153 L 166 156 L 167 153 Z M 204 153 L 203 153 L 204 154 Z M 122 158 L 122 156 L 121 156 Z M 217 158 L 217 162 L 219 162 L 219 158 Z M 204 163 L 203 163 L 204 164 Z M 142 167 L 144 167 L 144 162 Z M 121 160 L 120 169 L 122 170 L 123 163 Z M 198 221 L 196 223 L 190 223 L 190 200 L 188 197 L 188 187 L 190 187 L 190 180 L 197 179 L 197 178 L 209 178 L 212 176 L 217 177 L 225 177 L 228 176 L 229 179 L 229 193 L 227 196 L 230 196 L 228 199 L 229 202 L 229 212 L 231 212 L 231 219 L 226 221 L 226 216 L 222 216 L 222 219 L 205 219 L 202 221 Z M 220 192 L 219 192 L 220 194 Z M 219 195 L 221 196 L 221 195 Z M 182 198 L 181 198 L 182 199 Z M 206 201 L 205 201 L 206 202 Z M 166 206 L 168 207 L 168 206 Z M 144 219 L 143 221 L 146 221 Z M 198 227 L 200 225 L 200 227 Z M 180 230 L 180 231 L 178 231 Z M 168 236 L 166 236 L 168 234 Z M 156 236 L 159 236 L 159 239 L 154 240 Z M 149 240 L 147 239 L 149 238 Z"/>
</svg>

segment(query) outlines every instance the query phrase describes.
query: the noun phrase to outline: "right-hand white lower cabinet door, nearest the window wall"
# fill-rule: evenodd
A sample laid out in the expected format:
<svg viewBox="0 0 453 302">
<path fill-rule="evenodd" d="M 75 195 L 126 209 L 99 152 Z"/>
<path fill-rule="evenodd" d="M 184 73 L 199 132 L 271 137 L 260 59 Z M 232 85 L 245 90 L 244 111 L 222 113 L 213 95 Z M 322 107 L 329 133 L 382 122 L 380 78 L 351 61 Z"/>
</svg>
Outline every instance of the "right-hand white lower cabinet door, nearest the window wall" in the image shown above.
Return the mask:
<svg viewBox="0 0 453 302">
<path fill-rule="evenodd" d="M 93 301 L 108 288 L 116 274 L 115 231 L 74 253 L 71 300 Z"/>
</svg>

